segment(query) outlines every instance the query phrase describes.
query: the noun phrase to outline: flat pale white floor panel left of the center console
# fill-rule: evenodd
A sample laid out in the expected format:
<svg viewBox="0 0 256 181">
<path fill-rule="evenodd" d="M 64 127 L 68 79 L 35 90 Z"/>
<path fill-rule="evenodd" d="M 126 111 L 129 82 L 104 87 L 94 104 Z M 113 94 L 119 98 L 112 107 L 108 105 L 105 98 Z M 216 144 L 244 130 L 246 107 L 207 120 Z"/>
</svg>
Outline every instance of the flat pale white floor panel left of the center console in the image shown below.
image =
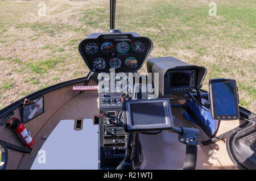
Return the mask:
<svg viewBox="0 0 256 181">
<path fill-rule="evenodd" d="M 83 121 L 82 130 L 75 131 L 74 120 L 61 120 L 31 169 L 98 169 L 98 125 L 92 119 Z"/>
</svg>

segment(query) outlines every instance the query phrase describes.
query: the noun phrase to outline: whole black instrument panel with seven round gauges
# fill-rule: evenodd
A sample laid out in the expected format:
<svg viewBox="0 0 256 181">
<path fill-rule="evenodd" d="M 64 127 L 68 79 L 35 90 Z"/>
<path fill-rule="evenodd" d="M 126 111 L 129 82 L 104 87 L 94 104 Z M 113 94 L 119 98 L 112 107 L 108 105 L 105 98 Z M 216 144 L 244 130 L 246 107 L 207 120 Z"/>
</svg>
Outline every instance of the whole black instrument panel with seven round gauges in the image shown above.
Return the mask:
<svg viewBox="0 0 256 181">
<path fill-rule="evenodd" d="M 152 41 L 137 33 L 92 33 L 79 44 L 85 64 L 94 72 L 135 72 L 152 49 Z"/>
</svg>

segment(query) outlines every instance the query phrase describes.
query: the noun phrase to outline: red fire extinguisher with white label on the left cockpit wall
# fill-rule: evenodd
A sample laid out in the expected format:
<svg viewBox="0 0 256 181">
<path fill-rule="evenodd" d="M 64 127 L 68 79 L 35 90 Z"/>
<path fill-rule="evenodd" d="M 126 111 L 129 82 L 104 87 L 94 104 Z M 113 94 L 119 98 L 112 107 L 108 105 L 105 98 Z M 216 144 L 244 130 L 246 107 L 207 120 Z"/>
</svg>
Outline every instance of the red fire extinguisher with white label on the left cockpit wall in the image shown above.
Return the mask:
<svg viewBox="0 0 256 181">
<path fill-rule="evenodd" d="M 34 145 L 34 139 L 31 137 L 31 132 L 24 127 L 24 124 L 17 118 L 14 117 L 7 122 L 7 127 L 13 128 L 14 131 L 18 134 L 22 142 L 28 147 Z"/>
</svg>

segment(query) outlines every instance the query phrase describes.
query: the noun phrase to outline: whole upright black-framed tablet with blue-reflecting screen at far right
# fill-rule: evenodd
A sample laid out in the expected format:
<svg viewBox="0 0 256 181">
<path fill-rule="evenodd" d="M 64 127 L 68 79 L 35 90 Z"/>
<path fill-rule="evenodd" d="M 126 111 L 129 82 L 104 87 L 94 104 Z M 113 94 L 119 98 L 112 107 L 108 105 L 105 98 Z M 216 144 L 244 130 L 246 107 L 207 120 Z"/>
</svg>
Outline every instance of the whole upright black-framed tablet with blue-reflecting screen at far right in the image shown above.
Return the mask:
<svg viewBox="0 0 256 181">
<path fill-rule="evenodd" d="M 209 91 L 213 119 L 239 119 L 238 94 L 234 79 L 210 79 Z"/>
</svg>

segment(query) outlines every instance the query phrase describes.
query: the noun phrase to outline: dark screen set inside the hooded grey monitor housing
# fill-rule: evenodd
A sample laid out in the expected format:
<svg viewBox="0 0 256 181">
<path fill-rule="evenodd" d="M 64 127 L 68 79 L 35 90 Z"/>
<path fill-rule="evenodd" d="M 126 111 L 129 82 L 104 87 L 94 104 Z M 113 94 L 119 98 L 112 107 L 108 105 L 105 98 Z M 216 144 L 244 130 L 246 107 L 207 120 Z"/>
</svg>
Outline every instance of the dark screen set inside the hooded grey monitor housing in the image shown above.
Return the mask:
<svg viewBox="0 0 256 181">
<path fill-rule="evenodd" d="M 191 70 L 170 72 L 170 88 L 191 87 Z"/>
</svg>

